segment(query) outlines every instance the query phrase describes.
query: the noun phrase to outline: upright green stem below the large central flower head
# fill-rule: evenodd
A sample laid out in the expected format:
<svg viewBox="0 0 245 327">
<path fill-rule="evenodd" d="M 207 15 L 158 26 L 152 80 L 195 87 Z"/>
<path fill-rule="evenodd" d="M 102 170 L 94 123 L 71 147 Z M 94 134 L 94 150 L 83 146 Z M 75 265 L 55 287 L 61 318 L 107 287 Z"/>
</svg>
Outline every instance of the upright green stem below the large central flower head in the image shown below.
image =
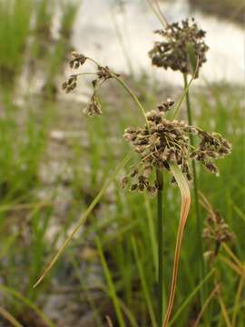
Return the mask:
<svg viewBox="0 0 245 327">
<path fill-rule="evenodd" d="M 163 175 L 162 171 L 156 170 L 157 182 L 159 185 L 157 192 L 157 230 L 158 230 L 158 317 L 159 327 L 162 327 L 163 311 L 163 214 L 162 214 L 162 192 L 163 192 Z"/>
</svg>

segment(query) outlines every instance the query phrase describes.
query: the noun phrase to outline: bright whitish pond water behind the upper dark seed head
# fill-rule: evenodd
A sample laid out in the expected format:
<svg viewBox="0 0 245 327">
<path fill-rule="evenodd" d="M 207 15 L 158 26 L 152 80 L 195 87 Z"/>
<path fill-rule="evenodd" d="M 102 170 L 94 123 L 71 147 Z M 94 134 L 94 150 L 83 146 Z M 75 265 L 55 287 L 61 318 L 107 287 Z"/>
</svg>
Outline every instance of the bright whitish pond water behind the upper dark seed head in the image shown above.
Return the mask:
<svg viewBox="0 0 245 327">
<path fill-rule="evenodd" d="M 91 55 L 102 64 L 118 72 L 134 74 L 142 71 L 161 77 L 162 81 L 181 84 L 181 75 L 152 68 L 148 51 L 157 35 L 153 31 L 161 26 L 147 1 L 124 2 L 122 8 L 107 0 L 83 0 L 73 28 L 73 46 Z M 187 0 L 162 3 L 162 11 L 169 22 L 194 16 L 207 31 L 208 63 L 201 69 L 201 81 L 244 82 L 244 35 L 240 26 L 201 12 L 191 13 Z M 121 41 L 120 41 L 121 39 Z M 130 62 L 130 64 L 129 64 Z"/>
</svg>

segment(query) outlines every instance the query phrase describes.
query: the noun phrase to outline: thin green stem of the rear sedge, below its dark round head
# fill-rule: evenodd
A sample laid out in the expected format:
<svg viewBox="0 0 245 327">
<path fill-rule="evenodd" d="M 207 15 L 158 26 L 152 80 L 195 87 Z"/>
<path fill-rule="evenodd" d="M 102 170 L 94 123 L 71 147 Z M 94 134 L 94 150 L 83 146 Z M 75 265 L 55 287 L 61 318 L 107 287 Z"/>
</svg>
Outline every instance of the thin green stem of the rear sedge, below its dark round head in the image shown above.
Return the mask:
<svg viewBox="0 0 245 327">
<path fill-rule="evenodd" d="M 186 107 L 187 107 L 187 115 L 188 115 L 188 123 L 192 125 L 192 116 L 191 116 L 191 101 L 190 101 L 190 94 L 187 81 L 187 74 L 183 74 L 184 78 L 184 88 L 187 89 L 186 92 Z M 190 143 L 191 146 L 194 146 L 193 135 L 190 134 Z M 196 212 L 196 230 L 198 236 L 198 249 L 199 249 L 199 257 L 200 257 L 200 280 L 202 281 L 205 276 L 205 265 L 203 260 L 203 246 L 202 246 L 202 239 L 201 239 L 201 213 L 200 213 L 200 204 L 198 198 L 198 177 L 196 172 L 196 163 L 194 160 L 191 161 L 192 163 L 192 173 L 193 173 L 193 188 L 194 188 L 194 203 L 195 203 L 195 212 Z M 203 287 L 200 289 L 200 298 L 201 298 L 201 306 L 204 303 L 204 290 Z"/>
</svg>

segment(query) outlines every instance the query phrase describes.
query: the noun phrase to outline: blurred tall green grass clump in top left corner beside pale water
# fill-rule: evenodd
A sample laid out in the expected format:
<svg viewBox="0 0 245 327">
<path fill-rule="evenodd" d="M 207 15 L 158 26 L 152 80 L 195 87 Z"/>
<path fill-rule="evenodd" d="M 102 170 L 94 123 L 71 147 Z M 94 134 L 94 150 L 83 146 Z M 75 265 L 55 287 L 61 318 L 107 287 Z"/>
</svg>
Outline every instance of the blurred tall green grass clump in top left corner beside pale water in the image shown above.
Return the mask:
<svg viewBox="0 0 245 327">
<path fill-rule="evenodd" d="M 8 91 L 14 89 L 25 63 L 31 63 L 32 71 L 41 66 L 44 90 L 52 94 L 55 77 L 71 50 L 73 21 L 80 4 L 76 0 L 1 0 L 0 82 Z M 61 11 L 61 25 L 54 39 L 52 25 L 57 10 Z"/>
</svg>

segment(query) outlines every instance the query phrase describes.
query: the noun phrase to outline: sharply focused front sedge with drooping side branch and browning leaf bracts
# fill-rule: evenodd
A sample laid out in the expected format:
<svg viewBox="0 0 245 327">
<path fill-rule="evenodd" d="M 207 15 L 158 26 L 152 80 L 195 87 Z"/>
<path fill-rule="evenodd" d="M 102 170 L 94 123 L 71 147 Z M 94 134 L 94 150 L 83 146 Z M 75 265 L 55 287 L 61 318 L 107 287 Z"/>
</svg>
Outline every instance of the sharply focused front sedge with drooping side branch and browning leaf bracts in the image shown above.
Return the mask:
<svg viewBox="0 0 245 327">
<path fill-rule="evenodd" d="M 198 126 L 187 124 L 184 121 L 176 119 L 167 119 L 166 113 L 174 110 L 173 116 L 179 111 L 181 102 L 173 109 L 174 102 L 171 99 L 162 102 L 157 108 L 146 111 L 142 106 L 137 96 L 132 89 L 126 84 L 120 74 L 115 74 L 108 66 L 103 66 L 97 63 L 93 58 L 84 54 L 73 52 L 70 59 L 70 67 L 78 70 L 86 63 L 92 63 L 95 67 L 93 73 L 79 72 L 71 74 L 63 84 L 63 89 L 66 93 L 71 93 L 77 87 L 81 76 L 92 76 L 92 94 L 89 104 L 84 108 L 84 114 L 88 116 L 103 114 L 103 107 L 98 95 L 100 87 L 108 80 L 116 80 L 139 107 L 144 119 L 141 126 L 133 126 L 125 129 L 123 137 L 126 142 L 131 144 L 132 150 L 137 154 L 138 161 L 134 163 L 132 170 L 126 173 L 122 178 L 122 188 L 130 192 L 149 193 L 150 196 L 157 197 L 157 212 L 158 212 L 158 235 L 159 235 L 159 255 L 158 255 L 158 282 L 159 282 L 159 312 L 158 325 L 167 326 L 171 317 L 171 311 L 176 290 L 178 266 L 181 254 L 181 241 L 184 232 L 184 226 L 188 217 L 191 195 L 189 191 L 188 181 L 191 181 L 192 173 L 190 169 L 190 161 L 196 161 L 206 167 L 211 172 L 218 174 L 218 168 L 215 160 L 230 154 L 231 144 L 222 137 L 221 134 L 215 132 L 206 132 Z M 186 93 L 186 90 L 185 90 Z M 181 99 L 183 99 L 182 96 Z M 191 136 L 190 136 L 191 135 Z M 197 145 L 191 144 L 191 137 L 197 139 Z M 103 188 L 93 199 L 81 219 L 76 224 L 73 232 L 64 241 L 63 245 L 54 256 L 54 259 L 47 265 L 43 275 L 35 283 L 39 284 L 44 276 L 51 270 L 54 263 L 58 260 L 64 249 L 73 239 L 73 236 L 78 233 L 82 225 L 87 220 L 94 206 L 103 196 L 110 183 L 116 175 L 122 170 L 126 163 L 130 161 L 132 152 L 130 152 L 119 163 L 115 172 L 104 183 Z M 171 279 L 171 293 L 167 312 L 163 320 L 162 314 L 162 217 L 164 205 L 162 203 L 163 192 L 163 173 L 171 174 L 171 183 L 177 183 L 181 191 L 181 219 L 178 228 L 177 241 L 174 254 L 174 263 Z M 167 191 L 167 185 L 164 185 L 164 192 Z M 132 242 L 135 247 L 134 241 Z M 162 322 L 163 321 L 163 322 Z"/>
</svg>

